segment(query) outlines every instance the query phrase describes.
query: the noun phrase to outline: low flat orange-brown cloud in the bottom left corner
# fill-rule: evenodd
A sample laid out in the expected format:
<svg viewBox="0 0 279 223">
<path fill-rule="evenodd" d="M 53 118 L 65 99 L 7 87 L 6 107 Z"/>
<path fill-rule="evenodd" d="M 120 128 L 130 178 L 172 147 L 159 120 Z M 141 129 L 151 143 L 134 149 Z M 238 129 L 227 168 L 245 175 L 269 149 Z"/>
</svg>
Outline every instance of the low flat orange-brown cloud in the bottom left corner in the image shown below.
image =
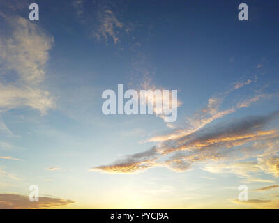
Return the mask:
<svg viewBox="0 0 279 223">
<path fill-rule="evenodd" d="M 0 194 L 1 209 L 40 209 L 40 208 L 61 208 L 75 203 L 71 200 L 39 197 L 39 201 L 31 202 L 29 197 L 21 194 Z"/>
</svg>

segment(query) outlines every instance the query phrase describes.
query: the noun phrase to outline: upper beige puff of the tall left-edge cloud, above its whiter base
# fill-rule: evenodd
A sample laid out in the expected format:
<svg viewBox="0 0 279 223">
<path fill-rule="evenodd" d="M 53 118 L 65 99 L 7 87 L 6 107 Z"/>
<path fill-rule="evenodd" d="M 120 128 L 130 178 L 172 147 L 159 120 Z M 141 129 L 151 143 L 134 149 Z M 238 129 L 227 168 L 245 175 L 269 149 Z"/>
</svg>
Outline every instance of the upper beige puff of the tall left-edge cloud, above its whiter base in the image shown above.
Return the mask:
<svg viewBox="0 0 279 223">
<path fill-rule="evenodd" d="M 5 67 L 15 70 L 26 83 L 41 82 L 54 39 L 23 17 L 8 17 L 6 22 L 12 29 L 6 35 L 1 33 L 0 55 Z"/>
</svg>

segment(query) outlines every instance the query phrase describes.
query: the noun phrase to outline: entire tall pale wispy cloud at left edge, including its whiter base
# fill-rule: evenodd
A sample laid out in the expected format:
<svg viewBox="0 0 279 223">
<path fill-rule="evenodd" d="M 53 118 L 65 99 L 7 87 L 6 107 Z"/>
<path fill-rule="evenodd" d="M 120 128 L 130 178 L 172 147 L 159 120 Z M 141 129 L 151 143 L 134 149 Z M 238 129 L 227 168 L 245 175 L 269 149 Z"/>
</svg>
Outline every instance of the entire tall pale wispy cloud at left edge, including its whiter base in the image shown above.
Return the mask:
<svg viewBox="0 0 279 223">
<path fill-rule="evenodd" d="M 40 85 L 54 38 L 17 15 L 1 13 L 0 21 L 0 109 L 27 106 L 45 114 L 55 106 Z"/>
</svg>

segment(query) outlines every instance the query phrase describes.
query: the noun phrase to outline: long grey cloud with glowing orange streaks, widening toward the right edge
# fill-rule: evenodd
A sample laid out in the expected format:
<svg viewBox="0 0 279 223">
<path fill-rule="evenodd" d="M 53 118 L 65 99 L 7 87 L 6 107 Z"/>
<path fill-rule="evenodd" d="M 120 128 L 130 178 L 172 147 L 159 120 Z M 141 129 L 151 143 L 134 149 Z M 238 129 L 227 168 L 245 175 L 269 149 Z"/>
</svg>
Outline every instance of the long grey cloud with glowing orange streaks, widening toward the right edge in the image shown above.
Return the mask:
<svg viewBox="0 0 279 223">
<path fill-rule="evenodd" d="M 186 171 L 197 162 L 209 161 L 236 161 L 248 157 L 257 157 L 269 147 L 266 144 L 254 144 L 244 147 L 244 144 L 257 141 L 274 141 L 278 139 L 277 130 L 263 130 L 265 126 L 278 118 L 279 112 L 273 112 L 266 116 L 250 116 L 230 122 L 202 128 L 180 137 L 163 141 L 158 146 L 143 153 L 130 155 L 110 165 L 91 168 L 93 171 L 105 171 L 111 173 L 131 173 L 142 171 L 151 167 L 168 167 L 173 171 Z M 258 146 L 254 149 L 253 146 Z M 234 149 L 232 149 L 234 148 Z M 278 151 L 278 150 L 277 150 Z M 276 151 L 274 151 L 276 152 Z M 174 154 L 169 157 L 170 154 Z M 276 174 L 276 162 L 259 158 L 261 162 L 242 162 L 236 164 L 223 164 L 223 166 L 205 167 L 207 171 L 228 171 L 242 177 L 250 177 L 249 172 L 268 171 Z M 264 162 L 265 161 L 265 162 Z M 263 164 L 269 166 L 264 168 Z M 275 172 L 276 171 L 276 172 Z"/>
</svg>

